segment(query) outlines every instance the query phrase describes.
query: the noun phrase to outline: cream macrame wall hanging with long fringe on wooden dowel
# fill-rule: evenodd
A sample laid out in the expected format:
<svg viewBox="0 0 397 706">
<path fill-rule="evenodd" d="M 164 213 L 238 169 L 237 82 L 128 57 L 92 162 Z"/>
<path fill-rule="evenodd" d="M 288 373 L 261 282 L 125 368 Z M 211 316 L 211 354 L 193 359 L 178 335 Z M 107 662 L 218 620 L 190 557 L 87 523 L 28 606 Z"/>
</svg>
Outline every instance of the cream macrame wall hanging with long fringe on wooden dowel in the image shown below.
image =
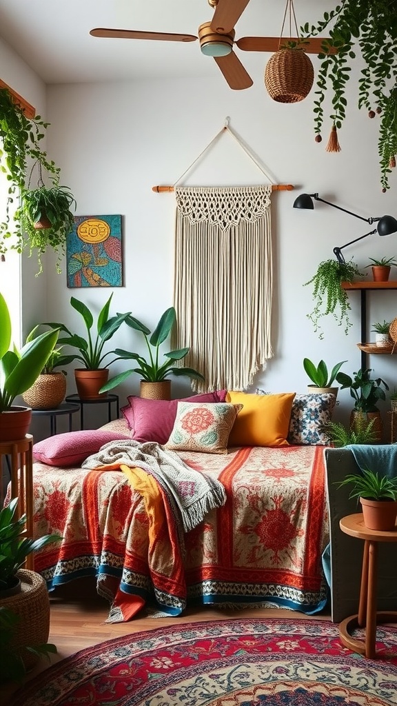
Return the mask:
<svg viewBox="0 0 397 706">
<path fill-rule="evenodd" d="M 206 150 L 225 131 L 272 181 L 228 120 Z M 174 191 L 177 201 L 172 347 L 189 347 L 184 366 L 205 377 L 192 381 L 197 392 L 245 390 L 273 357 L 271 193 L 293 187 L 177 186 L 184 174 L 173 186 L 153 187 Z"/>
</svg>

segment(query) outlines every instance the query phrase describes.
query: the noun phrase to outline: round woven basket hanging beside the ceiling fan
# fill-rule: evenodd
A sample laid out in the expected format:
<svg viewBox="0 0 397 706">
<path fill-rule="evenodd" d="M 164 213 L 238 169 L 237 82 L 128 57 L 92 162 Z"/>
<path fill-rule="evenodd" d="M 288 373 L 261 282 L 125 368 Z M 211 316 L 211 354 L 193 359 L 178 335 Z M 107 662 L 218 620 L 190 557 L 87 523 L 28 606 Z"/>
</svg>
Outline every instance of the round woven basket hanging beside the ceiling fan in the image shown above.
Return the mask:
<svg viewBox="0 0 397 706">
<path fill-rule="evenodd" d="M 312 61 L 302 49 L 279 49 L 266 64 L 266 90 L 278 103 L 303 100 L 309 95 L 313 81 Z"/>
</svg>

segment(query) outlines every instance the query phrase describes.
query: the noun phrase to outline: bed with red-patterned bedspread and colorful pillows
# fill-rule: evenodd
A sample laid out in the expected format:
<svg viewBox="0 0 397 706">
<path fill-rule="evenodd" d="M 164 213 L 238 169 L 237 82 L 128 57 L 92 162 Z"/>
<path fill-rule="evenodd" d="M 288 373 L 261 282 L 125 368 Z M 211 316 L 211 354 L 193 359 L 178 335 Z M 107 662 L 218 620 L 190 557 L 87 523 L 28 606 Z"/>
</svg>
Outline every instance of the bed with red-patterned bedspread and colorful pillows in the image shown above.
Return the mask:
<svg viewBox="0 0 397 706">
<path fill-rule="evenodd" d="M 167 614 L 194 603 L 273 604 L 308 614 L 324 608 L 321 554 L 329 537 L 321 424 L 331 419 L 335 398 L 227 393 L 225 402 L 225 395 L 171 402 L 131 396 L 122 419 L 35 444 L 35 535 L 63 537 L 35 557 L 50 590 L 95 576 L 97 592 L 112 605 L 109 621 L 127 620 L 144 604 Z M 221 415 L 214 431 L 208 419 L 222 407 L 234 416 L 227 426 Z M 198 433 L 186 431 L 186 409 L 199 410 Z M 172 492 L 159 474 L 146 475 L 161 508 L 148 498 L 145 464 L 119 462 L 131 438 L 134 453 L 160 448 L 196 475 L 220 481 L 225 503 L 180 532 Z M 105 469 L 95 469 L 104 458 Z"/>
</svg>

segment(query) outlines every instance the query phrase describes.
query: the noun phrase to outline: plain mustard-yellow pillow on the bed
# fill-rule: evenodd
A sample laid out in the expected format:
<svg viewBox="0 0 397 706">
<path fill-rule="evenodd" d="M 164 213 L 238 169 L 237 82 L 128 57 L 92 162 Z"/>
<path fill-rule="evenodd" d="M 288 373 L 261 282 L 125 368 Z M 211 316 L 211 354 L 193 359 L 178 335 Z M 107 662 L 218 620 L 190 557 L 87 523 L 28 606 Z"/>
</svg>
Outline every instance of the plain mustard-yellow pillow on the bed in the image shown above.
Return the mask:
<svg viewBox="0 0 397 706">
<path fill-rule="evenodd" d="M 289 446 L 295 393 L 251 395 L 227 392 L 226 402 L 243 405 L 230 432 L 228 446 Z"/>
</svg>

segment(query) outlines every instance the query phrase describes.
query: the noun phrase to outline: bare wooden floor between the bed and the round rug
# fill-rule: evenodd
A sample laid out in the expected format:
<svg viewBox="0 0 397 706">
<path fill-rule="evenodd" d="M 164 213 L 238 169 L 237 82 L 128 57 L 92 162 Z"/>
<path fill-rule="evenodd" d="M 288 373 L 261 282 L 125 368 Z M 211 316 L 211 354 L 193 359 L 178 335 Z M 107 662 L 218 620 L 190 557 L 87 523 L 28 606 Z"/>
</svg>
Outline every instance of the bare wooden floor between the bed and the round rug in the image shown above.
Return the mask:
<svg viewBox="0 0 397 706">
<path fill-rule="evenodd" d="M 95 590 L 92 580 L 78 580 L 57 588 L 50 594 L 51 623 L 49 629 L 49 642 L 57 646 L 57 654 L 51 655 L 50 663 L 41 659 L 27 679 L 31 679 L 40 671 L 48 669 L 51 664 L 59 662 L 65 657 L 85 647 L 97 645 L 98 642 L 117 638 L 119 635 L 129 635 L 143 630 L 196 621 L 227 620 L 228 618 L 310 618 L 303 613 L 285 609 L 244 609 L 239 611 L 220 610 L 215 608 L 190 609 L 183 616 L 176 618 L 149 618 L 137 616 L 128 623 L 105 623 L 109 614 L 109 604 L 100 598 Z M 317 620 L 330 620 L 327 611 L 312 616 Z M 6 706 L 15 686 L 0 686 L 0 702 Z M 22 706 L 22 705 L 21 705 Z"/>
</svg>

